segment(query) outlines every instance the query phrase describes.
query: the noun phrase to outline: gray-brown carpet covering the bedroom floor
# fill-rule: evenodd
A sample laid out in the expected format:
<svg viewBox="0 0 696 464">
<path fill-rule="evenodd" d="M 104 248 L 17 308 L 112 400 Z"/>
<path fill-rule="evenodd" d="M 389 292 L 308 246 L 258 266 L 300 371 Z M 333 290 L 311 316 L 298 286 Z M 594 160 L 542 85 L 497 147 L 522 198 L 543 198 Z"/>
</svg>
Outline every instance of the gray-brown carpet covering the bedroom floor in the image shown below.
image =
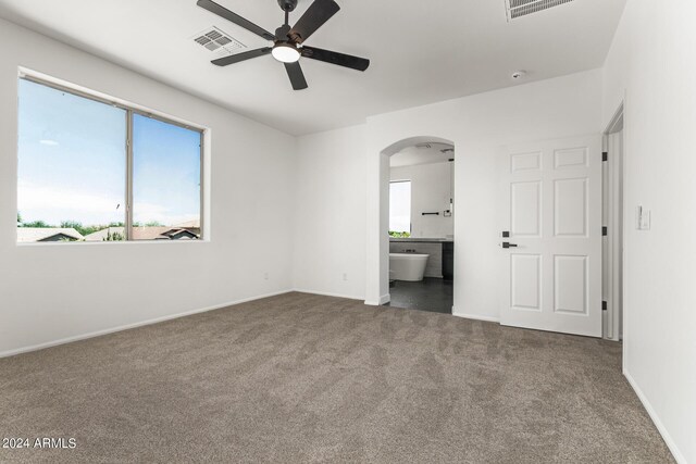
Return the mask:
<svg viewBox="0 0 696 464">
<path fill-rule="evenodd" d="M 0 360 L 0 461 L 668 463 L 618 343 L 290 293 Z"/>
</svg>

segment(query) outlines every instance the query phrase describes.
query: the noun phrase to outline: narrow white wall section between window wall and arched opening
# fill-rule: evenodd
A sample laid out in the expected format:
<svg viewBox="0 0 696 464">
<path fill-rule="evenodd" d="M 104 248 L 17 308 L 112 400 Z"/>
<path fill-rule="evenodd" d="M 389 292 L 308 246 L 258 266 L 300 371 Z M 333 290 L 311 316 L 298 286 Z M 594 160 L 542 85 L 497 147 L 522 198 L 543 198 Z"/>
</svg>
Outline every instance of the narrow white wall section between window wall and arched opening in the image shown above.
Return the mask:
<svg viewBox="0 0 696 464">
<path fill-rule="evenodd" d="M 364 298 L 365 128 L 298 139 L 294 286 Z"/>
</svg>

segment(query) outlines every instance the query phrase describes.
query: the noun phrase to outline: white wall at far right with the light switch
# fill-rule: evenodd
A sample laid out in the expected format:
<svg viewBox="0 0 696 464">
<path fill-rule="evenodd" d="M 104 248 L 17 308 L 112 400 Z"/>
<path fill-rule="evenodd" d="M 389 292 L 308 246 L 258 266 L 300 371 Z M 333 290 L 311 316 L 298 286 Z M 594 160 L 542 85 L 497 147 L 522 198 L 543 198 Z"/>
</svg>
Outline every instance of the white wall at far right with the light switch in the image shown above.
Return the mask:
<svg viewBox="0 0 696 464">
<path fill-rule="evenodd" d="M 608 124 L 625 96 L 624 372 L 683 463 L 696 463 L 695 15 L 691 0 L 629 0 L 602 109 Z"/>
</svg>

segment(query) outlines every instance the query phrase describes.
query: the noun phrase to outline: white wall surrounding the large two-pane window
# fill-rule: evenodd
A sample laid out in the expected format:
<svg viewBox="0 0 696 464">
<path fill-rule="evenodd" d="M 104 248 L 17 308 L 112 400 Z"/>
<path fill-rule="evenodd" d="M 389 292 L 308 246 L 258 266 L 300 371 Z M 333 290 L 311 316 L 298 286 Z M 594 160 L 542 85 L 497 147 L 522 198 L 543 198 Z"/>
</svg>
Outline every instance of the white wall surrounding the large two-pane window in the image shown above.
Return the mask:
<svg viewBox="0 0 696 464">
<path fill-rule="evenodd" d="M 212 241 L 16 246 L 17 66 L 210 127 Z M 291 288 L 295 138 L 2 20 L 0 103 L 0 355 Z"/>
</svg>

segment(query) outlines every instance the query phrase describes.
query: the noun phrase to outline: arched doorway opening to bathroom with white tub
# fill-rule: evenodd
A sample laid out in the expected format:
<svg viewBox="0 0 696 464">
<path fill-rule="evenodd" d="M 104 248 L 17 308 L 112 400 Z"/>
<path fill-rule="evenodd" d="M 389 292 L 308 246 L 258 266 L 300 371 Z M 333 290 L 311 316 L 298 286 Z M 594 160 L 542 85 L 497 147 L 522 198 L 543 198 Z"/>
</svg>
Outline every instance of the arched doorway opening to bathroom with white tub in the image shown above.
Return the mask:
<svg viewBox="0 0 696 464">
<path fill-rule="evenodd" d="M 389 302 L 451 314 L 453 303 L 455 146 L 418 141 L 388 166 Z"/>
</svg>

